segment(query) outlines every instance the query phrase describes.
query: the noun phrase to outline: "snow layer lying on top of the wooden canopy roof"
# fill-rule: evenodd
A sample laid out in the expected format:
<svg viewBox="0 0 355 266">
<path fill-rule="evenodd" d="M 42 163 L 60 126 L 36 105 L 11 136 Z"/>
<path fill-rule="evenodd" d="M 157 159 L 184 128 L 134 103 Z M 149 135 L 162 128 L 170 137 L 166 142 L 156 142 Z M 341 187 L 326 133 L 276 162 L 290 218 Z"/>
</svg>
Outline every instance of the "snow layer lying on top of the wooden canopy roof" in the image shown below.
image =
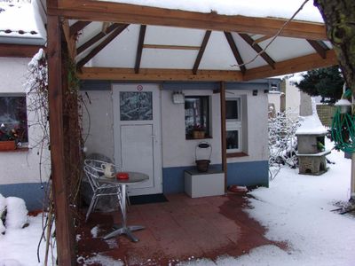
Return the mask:
<svg viewBox="0 0 355 266">
<path fill-rule="evenodd" d="M 99 0 L 100 1 L 100 0 Z M 138 4 L 189 12 L 217 12 L 221 15 L 241 15 L 258 18 L 289 19 L 304 3 L 304 0 L 103 0 L 123 4 Z M 308 1 L 295 20 L 321 22 L 323 19 L 313 1 Z"/>
</svg>

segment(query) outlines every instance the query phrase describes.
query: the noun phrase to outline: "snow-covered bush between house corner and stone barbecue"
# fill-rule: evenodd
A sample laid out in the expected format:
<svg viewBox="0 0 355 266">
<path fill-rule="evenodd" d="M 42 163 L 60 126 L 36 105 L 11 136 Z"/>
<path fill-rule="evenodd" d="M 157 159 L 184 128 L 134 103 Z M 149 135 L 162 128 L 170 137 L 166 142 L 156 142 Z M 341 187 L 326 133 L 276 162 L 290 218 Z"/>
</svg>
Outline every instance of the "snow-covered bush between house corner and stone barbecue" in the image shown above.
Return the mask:
<svg viewBox="0 0 355 266">
<path fill-rule="evenodd" d="M 296 129 L 300 123 L 287 112 L 269 118 L 269 172 L 273 179 L 284 165 L 296 168 Z"/>
</svg>

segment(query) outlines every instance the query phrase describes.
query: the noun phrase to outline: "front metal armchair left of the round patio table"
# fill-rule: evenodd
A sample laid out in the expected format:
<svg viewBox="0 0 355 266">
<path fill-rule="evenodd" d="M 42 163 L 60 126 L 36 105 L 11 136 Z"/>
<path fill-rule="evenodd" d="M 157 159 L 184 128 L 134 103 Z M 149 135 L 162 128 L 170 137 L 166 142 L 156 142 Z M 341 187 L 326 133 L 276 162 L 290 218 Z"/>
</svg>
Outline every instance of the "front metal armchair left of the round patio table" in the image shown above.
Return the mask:
<svg viewBox="0 0 355 266">
<path fill-rule="evenodd" d="M 85 165 L 83 167 L 83 170 L 85 172 L 86 177 L 88 178 L 88 181 L 91 185 L 91 189 L 93 192 L 93 195 L 91 198 L 91 203 L 90 203 L 89 209 L 86 213 L 85 222 L 88 221 L 89 215 L 95 209 L 99 199 L 102 197 L 115 195 L 115 196 L 117 196 L 117 199 L 118 199 L 120 206 L 121 206 L 122 193 L 121 193 L 121 188 L 119 185 L 100 184 L 99 178 L 102 175 L 99 175 L 99 170 L 95 167 L 92 167 L 91 165 Z"/>
</svg>

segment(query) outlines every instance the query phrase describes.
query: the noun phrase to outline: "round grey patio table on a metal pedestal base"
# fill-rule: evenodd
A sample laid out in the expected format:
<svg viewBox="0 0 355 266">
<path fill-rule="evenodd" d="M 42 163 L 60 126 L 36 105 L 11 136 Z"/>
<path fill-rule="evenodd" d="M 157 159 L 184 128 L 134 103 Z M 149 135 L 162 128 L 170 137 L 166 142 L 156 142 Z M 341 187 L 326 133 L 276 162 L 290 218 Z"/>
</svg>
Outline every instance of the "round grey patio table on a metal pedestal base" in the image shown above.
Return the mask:
<svg viewBox="0 0 355 266">
<path fill-rule="evenodd" d="M 138 173 L 138 172 L 126 172 L 128 173 L 129 178 L 128 179 L 117 179 L 117 178 L 106 178 L 102 177 L 100 178 L 100 182 L 106 183 L 106 184 L 116 184 L 121 186 L 121 192 L 122 192 L 122 202 L 121 202 L 121 210 L 122 210 L 122 225 L 120 228 L 115 229 L 114 231 L 106 234 L 104 236 L 104 239 L 110 239 L 113 238 L 117 235 L 126 235 L 130 240 L 133 242 L 138 242 L 138 238 L 136 238 L 133 234 L 132 231 L 138 231 L 142 230 L 145 227 L 141 225 L 127 225 L 127 208 L 126 208 L 126 192 L 127 192 L 127 185 L 130 184 L 137 184 L 144 182 L 149 179 L 149 176 L 143 173 Z M 114 175 L 115 176 L 115 175 Z"/>
</svg>

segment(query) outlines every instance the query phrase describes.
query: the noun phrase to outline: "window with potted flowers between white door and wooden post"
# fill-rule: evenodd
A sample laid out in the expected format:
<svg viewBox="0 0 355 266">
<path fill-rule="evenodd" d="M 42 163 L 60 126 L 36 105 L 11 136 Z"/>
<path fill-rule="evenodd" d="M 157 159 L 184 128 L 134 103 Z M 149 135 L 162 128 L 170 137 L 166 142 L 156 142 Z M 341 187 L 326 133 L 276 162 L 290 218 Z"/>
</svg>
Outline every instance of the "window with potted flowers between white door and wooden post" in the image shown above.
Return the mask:
<svg viewBox="0 0 355 266">
<path fill-rule="evenodd" d="M 193 131 L 204 134 L 195 137 Z M 186 139 L 210 137 L 209 96 L 185 96 L 185 136 Z"/>
</svg>

